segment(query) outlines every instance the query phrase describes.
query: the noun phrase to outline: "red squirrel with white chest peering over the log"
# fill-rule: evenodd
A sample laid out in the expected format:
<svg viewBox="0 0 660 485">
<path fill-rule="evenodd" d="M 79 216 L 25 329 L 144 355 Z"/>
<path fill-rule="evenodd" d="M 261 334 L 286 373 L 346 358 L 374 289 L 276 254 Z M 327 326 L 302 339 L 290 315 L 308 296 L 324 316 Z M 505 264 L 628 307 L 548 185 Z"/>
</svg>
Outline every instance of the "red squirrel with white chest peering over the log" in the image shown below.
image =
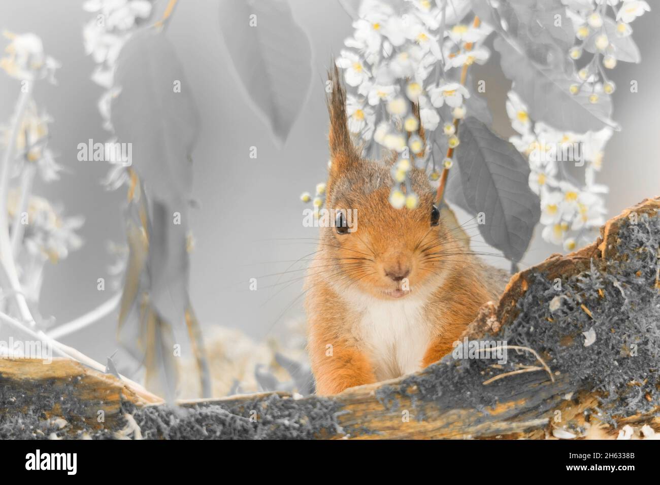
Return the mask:
<svg viewBox="0 0 660 485">
<path fill-rule="evenodd" d="M 320 228 L 306 275 L 308 352 L 319 395 L 420 370 L 449 353 L 506 272 L 469 250 L 448 209 L 434 205 L 426 172 L 413 168 L 415 209 L 389 203 L 391 160 L 365 160 L 348 131 L 346 94 L 331 72 L 327 209 L 356 210 Z M 423 132 L 420 133 L 423 135 Z"/>
</svg>

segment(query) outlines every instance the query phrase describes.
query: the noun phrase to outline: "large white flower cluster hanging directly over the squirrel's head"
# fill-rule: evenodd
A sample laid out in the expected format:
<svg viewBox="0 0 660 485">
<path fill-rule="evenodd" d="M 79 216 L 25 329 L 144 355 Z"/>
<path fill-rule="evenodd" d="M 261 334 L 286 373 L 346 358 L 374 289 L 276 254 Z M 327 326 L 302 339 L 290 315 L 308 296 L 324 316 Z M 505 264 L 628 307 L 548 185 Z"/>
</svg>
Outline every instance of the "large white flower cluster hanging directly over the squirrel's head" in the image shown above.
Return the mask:
<svg viewBox="0 0 660 485">
<path fill-rule="evenodd" d="M 467 15 L 469 2 L 453 4 L 407 0 L 397 12 L 380 0 L 365 0 L 353 22 L 354 34 L 345 41 L 348 49 L 337 59 L 350 88 L 348 129 L 356 145 L 370 156 L 380 154 L 378 146 L 398 154 L 390 195 L 397 209 L 418 203 L 409 178 L 413 164 L 432 167 L 430 178 L 438 179 L 431 148 L 436 133 L 442 133 L 444 146 L 455 148 L 455 120 L 467 113 L 470 92 L 462 68 L 490 56 L 481 43 L 492 28 L 457 23 Z M 418 134 L 420 123 L 425 139 Z M 451 158 L 443 164 L 451 166 Z"/>
</svg>

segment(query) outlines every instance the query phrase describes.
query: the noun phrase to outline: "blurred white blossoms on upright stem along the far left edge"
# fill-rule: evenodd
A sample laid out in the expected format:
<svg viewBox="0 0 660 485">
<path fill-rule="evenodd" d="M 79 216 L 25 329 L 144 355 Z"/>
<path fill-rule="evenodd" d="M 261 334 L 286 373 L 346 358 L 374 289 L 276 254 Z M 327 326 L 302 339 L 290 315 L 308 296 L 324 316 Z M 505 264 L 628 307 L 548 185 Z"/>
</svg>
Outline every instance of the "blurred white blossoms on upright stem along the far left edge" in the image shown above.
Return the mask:
<svg viewBox="0 0 660 485">
<path fill-rule="evenodd" d="M 7 34 L 11 41 L 0 59 L 0 67 L 11 77 L 22 82 L 46 79 L 54 82 L 59 63 L 44 54 L 41 39 L 35 34 Z M 26 97 L 18 104 L 9 126 L 0 127 L 0 145 L 5 153 L 15 156 L 8 159 L 11 177 L 3 185 L 7 198 L 7 224 L 15 270 L 20 278 L 21 292 L 36 302 L 42 281 L 42 269 L 46 261 L 59 261 L 69 251 L 78 249 L 82 241 L 75 230 L 81 227 L 81 218 L 63 218 L 43 197 L 32 195 L 34 176 L 38 173 L 45 182 L 59 179 L 63 168 L 55 162 L 50 148 L 49 124 L 53 119 L 38 110 L 32 97 L 32 87 L 22 86 L 20 96 Z M 13 186 L 11 186 L 13 185 Z M 5 229 L 7 230 L 7 229 Z"/>
</svg>

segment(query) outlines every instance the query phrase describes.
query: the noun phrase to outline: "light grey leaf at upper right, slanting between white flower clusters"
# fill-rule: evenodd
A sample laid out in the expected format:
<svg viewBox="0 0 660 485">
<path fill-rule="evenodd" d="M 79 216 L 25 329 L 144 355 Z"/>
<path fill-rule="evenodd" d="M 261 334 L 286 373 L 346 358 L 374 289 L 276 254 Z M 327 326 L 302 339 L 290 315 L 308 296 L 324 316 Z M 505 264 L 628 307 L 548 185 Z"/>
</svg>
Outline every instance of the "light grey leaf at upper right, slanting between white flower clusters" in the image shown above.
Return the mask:
<svg viewBox="0 0 660 485">
<path fill-rule="evenodd" d="M 618 129 L 610 119 L 611 96 L 600 93 L 599 101 L 591 103 L 589 92 L 569 92 L 574 81 L 561 71 L 538 65 L 502 38 L 495 40 L 494 47 L 500 52 L 502 71 L 515 83 L 513 89 L 527 104 L 535 121 L 577 133 L 605 126 Z"/>
</svg>

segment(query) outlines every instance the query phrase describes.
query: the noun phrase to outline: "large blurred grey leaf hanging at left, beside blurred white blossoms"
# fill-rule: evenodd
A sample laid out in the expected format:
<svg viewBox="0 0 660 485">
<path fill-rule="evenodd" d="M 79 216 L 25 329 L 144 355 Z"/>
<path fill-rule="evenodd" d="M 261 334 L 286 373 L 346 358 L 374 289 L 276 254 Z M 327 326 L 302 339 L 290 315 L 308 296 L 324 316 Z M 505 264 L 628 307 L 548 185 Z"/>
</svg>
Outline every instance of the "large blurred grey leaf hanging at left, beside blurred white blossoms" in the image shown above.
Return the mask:
<svg viewBox="0 0 660 485">
<path fill-rule="evenodd" d="M 111 118 L 121 143 L 132 143 L 133 170 L 150 194 L 187 199 L 199 116 L 183 67 L 164 34 L 135 34 L 117 59 Z M 180 92 L 175 87 L 180 86 Z"/>
</svg>

